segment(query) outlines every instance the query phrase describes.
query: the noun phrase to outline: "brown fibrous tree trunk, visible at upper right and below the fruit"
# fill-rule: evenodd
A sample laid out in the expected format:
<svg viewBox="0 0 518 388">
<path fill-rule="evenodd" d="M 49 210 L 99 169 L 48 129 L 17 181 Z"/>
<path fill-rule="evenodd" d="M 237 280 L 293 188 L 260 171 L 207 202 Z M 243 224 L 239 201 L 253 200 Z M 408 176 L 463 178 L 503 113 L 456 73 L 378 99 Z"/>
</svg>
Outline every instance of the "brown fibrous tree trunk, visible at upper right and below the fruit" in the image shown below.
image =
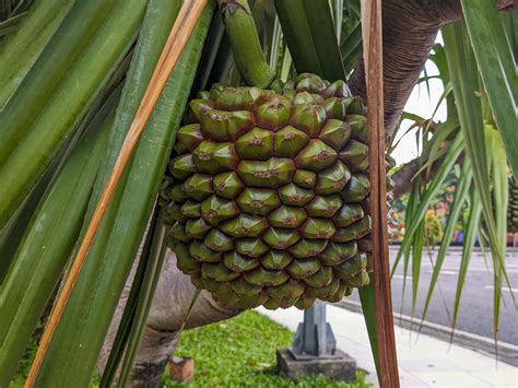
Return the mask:
<svg viewBox="0 0 518 388">
<path fill-rule="evenodd" d="M 515 0 L 498 0 L 496 3 L 501 10 L 518 8 L 518 2 Z M 439 28 L 461 17 L 462 9 L 459 0 L 385 0 L 382 2 L 385 124 L 388 136 L 393 133 L 399 124 L 403 107 L 424 68 Z M 363 60 L 356 63 L 350 86 L 354 94 L 366 99 Z M 413 164 L 416 165 L 416 163 Z M 404 169 L 405 176 L 414 175 L 413 164 Z M 397 178 L 396 181 L 398 181 Z M 175 260 L 174 255 L 169 252 L 137 355 L 131 380 L 133 387 L 154 387 L 158 381 L 175 349 L 178 329 L 195 293 L 190 279 L 176 269 Z M 129 284 L 131 283 L 128 282 L 125 289 L 99 356 L 101 371 L 106 363 L 110 343 L 117 331 L 129 293 Z M 209 293 L 202 292 L 187 328 L 223 320 L 238 313 L 236 309 L 223 307 Z"/>
</svg>

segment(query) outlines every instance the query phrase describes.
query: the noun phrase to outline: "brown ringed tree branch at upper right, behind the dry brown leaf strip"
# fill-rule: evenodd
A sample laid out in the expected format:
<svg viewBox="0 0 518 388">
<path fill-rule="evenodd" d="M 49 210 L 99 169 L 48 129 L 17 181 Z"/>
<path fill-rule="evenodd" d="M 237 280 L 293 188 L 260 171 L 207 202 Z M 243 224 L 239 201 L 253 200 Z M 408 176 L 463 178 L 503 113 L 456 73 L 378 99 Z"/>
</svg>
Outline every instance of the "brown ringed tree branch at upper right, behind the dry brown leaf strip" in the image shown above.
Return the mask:
<svg viewBox="0 0 518 388">
<path fill-rule="evenodd" d="M 518 9 L 516 0 L 498 0 L 503 11 Z M 462 19 L 459 0 L 384 0 L 385 128 L 396 130 L 401 113 L 428 59 L 439 28 Z M 365 101 L 365 69 L 358 60 L 350 86 Z"/>
</svg>

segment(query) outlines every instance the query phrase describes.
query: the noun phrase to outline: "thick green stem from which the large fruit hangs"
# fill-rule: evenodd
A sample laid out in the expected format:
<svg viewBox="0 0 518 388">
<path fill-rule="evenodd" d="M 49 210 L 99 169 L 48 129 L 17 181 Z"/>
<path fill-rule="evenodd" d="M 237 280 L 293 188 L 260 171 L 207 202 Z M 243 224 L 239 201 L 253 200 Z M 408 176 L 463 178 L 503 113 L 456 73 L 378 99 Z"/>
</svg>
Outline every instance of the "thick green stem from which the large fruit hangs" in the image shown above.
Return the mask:
<svg viewBox="0 0 518 388">
<path fill-rule="evenodd" d="M 250 86 L 270 86 L 276 74 L 262 52 L 247 1 L 219 0 L 219 3 L 239 73 Z"/>
</svg>

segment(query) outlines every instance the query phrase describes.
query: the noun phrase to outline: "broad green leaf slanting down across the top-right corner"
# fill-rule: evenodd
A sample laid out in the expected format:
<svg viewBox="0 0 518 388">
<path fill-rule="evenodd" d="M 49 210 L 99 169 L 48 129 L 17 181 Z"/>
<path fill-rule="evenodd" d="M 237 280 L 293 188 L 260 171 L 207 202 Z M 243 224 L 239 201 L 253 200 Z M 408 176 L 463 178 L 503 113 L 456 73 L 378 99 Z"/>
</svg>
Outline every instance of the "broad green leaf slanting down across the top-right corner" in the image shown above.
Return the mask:
<svg viewBox="0 0 518 388">
<path fill-rule="evenodd" d="M 493 117 L 518 177 L 518 72 L 494 1 L 462 0 L 466 25 Z"/>
</svg>

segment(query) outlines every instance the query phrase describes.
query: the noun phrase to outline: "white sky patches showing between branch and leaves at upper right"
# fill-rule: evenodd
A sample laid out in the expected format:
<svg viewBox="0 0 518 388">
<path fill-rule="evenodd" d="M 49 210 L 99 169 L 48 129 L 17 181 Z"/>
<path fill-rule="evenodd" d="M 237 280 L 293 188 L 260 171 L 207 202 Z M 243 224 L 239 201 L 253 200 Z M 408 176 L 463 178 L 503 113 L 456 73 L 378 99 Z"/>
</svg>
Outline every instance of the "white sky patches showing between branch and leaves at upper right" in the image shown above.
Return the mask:
<svg viewBox="0 0 518 388">
<path fill-rule="evenodd" d="M 443 43 L 440 35 L 437 37 L 437 43 Z M 426 71 L 429 75 L 438 75 L 438 70 L 435 67 L 434 62 L 427 61 L 426 62 Z M 424 72 L 421 77 L 424 75 Z M 443 83 L 438 79 L 429 80 L 429 96 L 426 90 L 426 84 L 423 82 L 414 87 L 412 94 L 410 95 L 409 101 L 404 107 L 405 111 L 416 114 L 425 119 L 432 117 L 434 109 L 437 105 L 437 102 L 443 94 Z M 435 114 L 434 120 L 435 121 L 444 121 L 446 119 L 446 103 L 443 102 Z M 413 121 L 411 120 L 403 120 L 401 124 L 401 129 L 399 130 L 399 134 L 403 134 L 408 128 L 412 126 Z M 407 163 L 417 156 L 417 144 L 415 139 L 416 130 L 412 130 L 408 134 L 403 137 L 399 145 L 392 152 L 392 157 L 396 158 L 397 164 Z M 398 138 L 397 138 L 398 139 Z"/>
</svg>

